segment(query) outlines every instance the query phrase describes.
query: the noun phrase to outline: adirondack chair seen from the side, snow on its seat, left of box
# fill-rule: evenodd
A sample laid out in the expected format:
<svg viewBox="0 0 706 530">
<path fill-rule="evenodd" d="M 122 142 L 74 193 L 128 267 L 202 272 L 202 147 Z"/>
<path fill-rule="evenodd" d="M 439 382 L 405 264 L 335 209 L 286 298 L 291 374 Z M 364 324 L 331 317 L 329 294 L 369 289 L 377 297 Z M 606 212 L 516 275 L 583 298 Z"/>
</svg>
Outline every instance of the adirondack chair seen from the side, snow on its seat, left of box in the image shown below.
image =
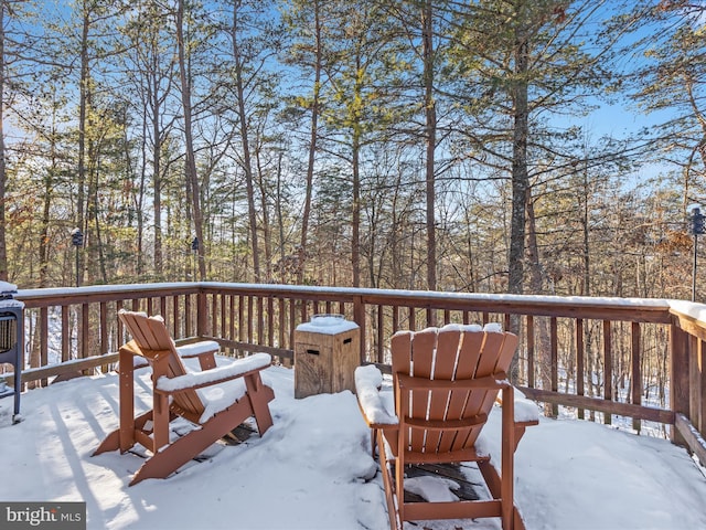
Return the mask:
<svg viewBox="0 0 706 530">
<path fill-rule="evenodd" d="M 216 367 L 213 350 L 201 349 L 202 371 L 189 372 L 161 317 L 121 310 L 118 314 L 132 340 L 119 350 L 120 426 L 94 455 L 140 444 L 151 456 L 138 469 L 130 486 L 146 478 L 165 478 L 213 443 L 255 416 L 260 434 L 272 425 L 268 403 L 275 393 L 260 379 L 271 364 L 267 353 L 256 353 L 232 364 Z M 200 352 L 196 348 L 195 353 Z M 152 409 L 135 416 L 135 356 L 152 369 Z M 139 363 L 137 363 L 139 365 Z M 217 386 L 217 389 L 216 389 Z M 220 398 L 208 400 L 215 389 Z M 183 417 L 196 428 L 171 439 L 170 422 Z"/>
</svg>

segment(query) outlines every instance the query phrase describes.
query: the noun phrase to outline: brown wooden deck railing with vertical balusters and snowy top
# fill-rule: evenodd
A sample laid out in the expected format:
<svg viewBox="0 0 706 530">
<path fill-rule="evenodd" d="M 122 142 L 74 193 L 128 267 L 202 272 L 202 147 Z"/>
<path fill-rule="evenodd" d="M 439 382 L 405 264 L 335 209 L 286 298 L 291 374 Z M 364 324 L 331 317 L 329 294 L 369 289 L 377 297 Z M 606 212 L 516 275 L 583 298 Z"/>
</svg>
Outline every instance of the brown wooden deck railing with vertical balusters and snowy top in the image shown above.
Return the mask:
<svg viewBox="0 0 706 530">
<path fill-rule="evenodd" d="M 361 361 L 383 367 L 398 329 L 499 321 L 521 337 L 516 383 L 549 413 L 628 417 L 635 430 L 657 422 L 706 463 L 702 305 L 222 283 L 26 289 L 18 299 L 33 359 L 22 380 L 34 385 L 110 369 L 127 338 L 120 308 L 161 314 L 175 339 L 208 337 L 233 354 L 267 351 L 285 363 L 297 326 L 321 312 L 357 322 Z"/>
</svg>

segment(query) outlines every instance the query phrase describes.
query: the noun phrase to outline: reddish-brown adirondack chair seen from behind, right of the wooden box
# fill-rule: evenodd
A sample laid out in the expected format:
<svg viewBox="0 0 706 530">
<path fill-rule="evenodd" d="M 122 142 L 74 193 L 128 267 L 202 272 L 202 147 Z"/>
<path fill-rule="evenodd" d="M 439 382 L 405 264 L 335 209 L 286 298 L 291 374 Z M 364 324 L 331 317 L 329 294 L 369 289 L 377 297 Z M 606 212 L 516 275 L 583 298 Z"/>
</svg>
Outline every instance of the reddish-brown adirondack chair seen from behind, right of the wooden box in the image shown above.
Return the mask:
<svg viewBox="0 0 706 530">
<path fill-rule="evenodd" d="M 491 328 L 492 329 L 492 328 Z M 500 517 L 504 530 L 524 528 L 513 501 L 513 455 L 525 427 L 536 418 L 515 421 L 513 386 L 506 371 L 517 347 L 513 333 L 479 326 L 446 326 L 392 338 L 396 415 L 391 415 L 375 388 L 377 369 L 356 371 L 361 410 L 372 427 L 373 452 L 379 451 L 391 528 L 404 521 Z M 475 442 L 502 392 L 501 474 Z M 536 409 L 536 407 L 534 407 Z M 474 462 L 485 479 L 490 500 L 405 501 L 405 471 L 414 464 Z M 502 478 L 501 478 L 502 477 Z"/>
</svg>

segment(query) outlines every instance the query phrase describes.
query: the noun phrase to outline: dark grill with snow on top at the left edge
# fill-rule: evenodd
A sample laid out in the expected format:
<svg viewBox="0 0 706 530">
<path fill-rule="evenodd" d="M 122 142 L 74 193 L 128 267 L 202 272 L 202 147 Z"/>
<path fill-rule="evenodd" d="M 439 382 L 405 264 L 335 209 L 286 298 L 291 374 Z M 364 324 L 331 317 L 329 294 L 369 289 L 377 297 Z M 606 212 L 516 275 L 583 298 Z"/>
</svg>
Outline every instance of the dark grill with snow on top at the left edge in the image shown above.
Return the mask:
<svg viewBox="0 0 706 530">
<path fill-rule="evenodd" d="M 12 298 L 11 294 L 0 294 L 0 363 L 14 367 L 12 388 L 0 379 L 0 399 L 14 396 L 12 422 L 21 421 L 20 394 L 22 392 L 22 352 L 24 351 L 23 328 L 24 304 Z"/>
</svg>

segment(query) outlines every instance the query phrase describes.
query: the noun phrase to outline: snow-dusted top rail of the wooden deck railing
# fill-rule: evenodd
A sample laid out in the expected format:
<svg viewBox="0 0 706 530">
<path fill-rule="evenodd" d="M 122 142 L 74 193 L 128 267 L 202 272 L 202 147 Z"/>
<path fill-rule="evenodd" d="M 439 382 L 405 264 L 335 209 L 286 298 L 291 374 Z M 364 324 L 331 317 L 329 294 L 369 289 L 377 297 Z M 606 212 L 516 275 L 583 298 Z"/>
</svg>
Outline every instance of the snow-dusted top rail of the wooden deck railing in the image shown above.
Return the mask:
<svg viewBox="0 0 706 530">
<path fill-rule="evenodd" d="M 417 308 L 437 308 L 514 315 L 596 318 L 670 324 L 672 315 L 699 315 L 706 322 L 706 306 L 661 298 L 587 296 L 535 296 L 490 293 L 447 293 L 282 284 L 174 282 L 154 284 L 96 285 L 85 287 L 20 289 L 17 298 L 28 307 L 82 304 L 117 299 L 218 293 L 300 299 L 353 301 Z M 700 312 L 699 312 L 700 311 Z M 702 319 L 700 317 L 704 317 Z"/>
</svg>

